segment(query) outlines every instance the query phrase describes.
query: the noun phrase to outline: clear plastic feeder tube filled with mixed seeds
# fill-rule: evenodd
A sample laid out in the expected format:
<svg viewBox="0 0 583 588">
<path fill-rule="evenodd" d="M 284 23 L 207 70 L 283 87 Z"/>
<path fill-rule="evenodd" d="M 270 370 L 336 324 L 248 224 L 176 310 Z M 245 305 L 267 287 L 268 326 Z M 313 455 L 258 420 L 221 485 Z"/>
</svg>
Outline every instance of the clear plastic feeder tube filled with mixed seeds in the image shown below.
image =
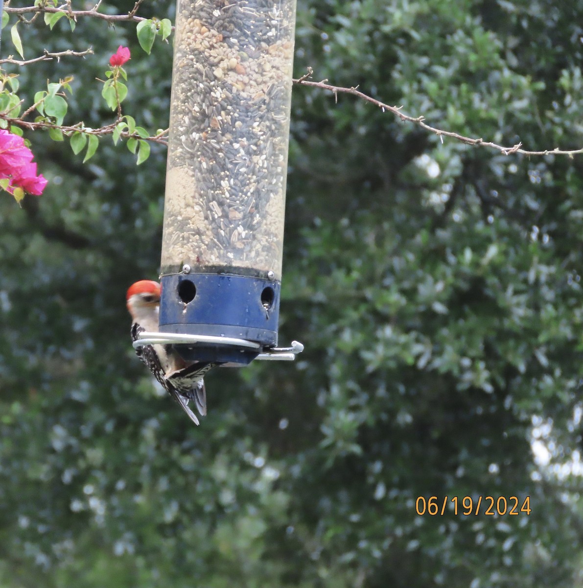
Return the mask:
<svg viewBox="0 0 583 588">
<path fill-rule="evenodd" d="M 295 12 L 178 1 L 162 275 L 281 279 Z"/>
</svg>

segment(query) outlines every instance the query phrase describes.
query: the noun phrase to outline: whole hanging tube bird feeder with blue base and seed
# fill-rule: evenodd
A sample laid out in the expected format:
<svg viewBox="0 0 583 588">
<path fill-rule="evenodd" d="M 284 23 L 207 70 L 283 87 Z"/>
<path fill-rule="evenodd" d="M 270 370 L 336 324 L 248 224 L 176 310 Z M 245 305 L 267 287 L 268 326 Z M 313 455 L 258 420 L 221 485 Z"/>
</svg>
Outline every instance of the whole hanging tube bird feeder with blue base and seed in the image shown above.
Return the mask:
<svg viewBox="0 0 583 588">
<path fill-rule="evenodd" d="M 178 0 L 160 337 L 187 360 L 277 348 L 296 0 Z"/>
</svg>

